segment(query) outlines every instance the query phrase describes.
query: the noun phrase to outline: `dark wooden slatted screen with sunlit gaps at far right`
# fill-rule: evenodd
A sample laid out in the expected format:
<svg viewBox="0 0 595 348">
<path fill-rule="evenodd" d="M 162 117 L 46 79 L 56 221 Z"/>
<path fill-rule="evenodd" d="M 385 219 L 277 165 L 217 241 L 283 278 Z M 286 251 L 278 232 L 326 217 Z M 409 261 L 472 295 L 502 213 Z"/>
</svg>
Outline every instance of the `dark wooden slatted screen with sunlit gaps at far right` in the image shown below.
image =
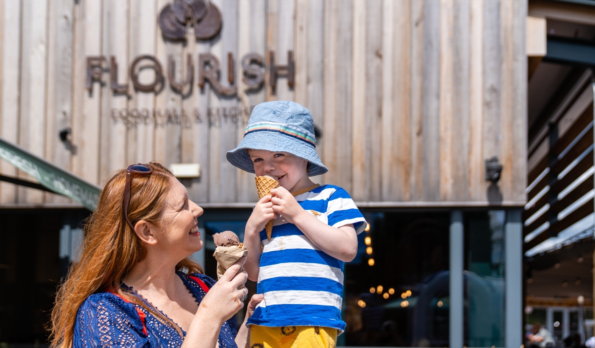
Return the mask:
<svg viewBox="0 0 595 348">
<path fill-rule="evenodd" d="M 525 250 L 593 213 L 593 88 L 581 81 L 578 86 L 573 102 L 549 124 L 549 135 L 537 140 L 536 148 L 547 150 L 536 150 L 530 158 L 537 164 L 528 174 Z"/>
</svg>

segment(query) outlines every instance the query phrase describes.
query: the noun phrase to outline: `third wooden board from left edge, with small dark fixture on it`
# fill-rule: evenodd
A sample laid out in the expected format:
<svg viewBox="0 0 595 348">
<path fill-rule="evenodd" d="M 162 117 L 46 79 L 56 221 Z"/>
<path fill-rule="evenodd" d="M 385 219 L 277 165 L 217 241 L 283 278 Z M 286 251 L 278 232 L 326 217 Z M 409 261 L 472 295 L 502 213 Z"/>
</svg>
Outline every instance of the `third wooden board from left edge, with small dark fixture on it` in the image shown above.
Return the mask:
<svg viewBox="0 0 595 348">
<path fill-rule="evenodd" d="M 58 137 L 71 126 L 73 5 L 70 0 L 50 1 L 48 8 L 48 78 L 44 157 L 70 170 L 71 151 Z M 69 203 L 69 198 L 45 193 L 48 203 Z"/>
</svg>

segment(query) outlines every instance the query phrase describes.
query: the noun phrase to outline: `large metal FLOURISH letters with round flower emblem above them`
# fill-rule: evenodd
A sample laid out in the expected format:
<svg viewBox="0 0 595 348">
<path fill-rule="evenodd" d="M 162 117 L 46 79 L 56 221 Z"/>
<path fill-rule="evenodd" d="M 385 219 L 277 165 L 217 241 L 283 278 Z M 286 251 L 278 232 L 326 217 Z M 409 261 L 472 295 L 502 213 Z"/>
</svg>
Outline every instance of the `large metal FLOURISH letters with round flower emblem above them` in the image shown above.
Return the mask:
<svg viewBox="0 0 595 348">
<path fill-rule="evenodd" d="M 221 12 L 208 0 L 174 0 L 172 4 L 165 5 L 159 14 L 159 27 L 166 40 L 185 40 L 186 29 L 192 26 L 196 39 L 209 40 L 216 37 L 221 31 Z M 183 59 L 183 58 L 182 58 Z M 93 88 L 93 83 L 102 81 L 102 75 L 109 71 L 109 87 L 115 94 L 128 93 L 128 84 L 118 83 L 118 63 L 115 56 L 109 58 L 109 69 L 104 65 L 106 56 L 87 57 L 87 90 Z M 148 65 L 149 61 L 151 62 Z M 155 80 L 152 83 L 140 83 L 139 71 L 142 68 L 152 68 L 155 71 Z M 287 77 L 287 85 L 293 88 L 295 81 L 295 62 L 293 62 L 293 51 L 287 52 L 287 65 L 275 65 L 275 52 L 268 52 L 268 67 L 265 58 L 259 53 L 248 53 L 242 57 L 242 81 L 246 84 L 246 91 L 256 91 L 262 88 L 265 83 L 265 69 L 268 68 L 268 84 L 272 93 L 277 90 L 277 80 L 280 76 Z M 180 62 L 183 64 L 183 62 Z M 181 92 L 186 86 L 192 86 L 195 78 L 195 69 L 192 62 L 192 55 L 186 58 L 186 76 L 183 80 L 176 80 L 176 60 L 173 55 L 167 58 L 167 80 L 170 87 Z M 227 84 L 220 81 L 221 64 L 219 58 L 212 53 L 201 53 L 198 56 L 198 86 L 205 87 L 208 83 L 216 94 L 223 97 L 231 97 L 237 94 L 235 60 L 233 53 L 227 53 Z M 130 81 L 135 91 L 143 93 L 158 94 L 163 90 L 166 75 L 161 62 L 152 55 L 141 55 L 134 58 L 130 64 Z"/>
</svg>

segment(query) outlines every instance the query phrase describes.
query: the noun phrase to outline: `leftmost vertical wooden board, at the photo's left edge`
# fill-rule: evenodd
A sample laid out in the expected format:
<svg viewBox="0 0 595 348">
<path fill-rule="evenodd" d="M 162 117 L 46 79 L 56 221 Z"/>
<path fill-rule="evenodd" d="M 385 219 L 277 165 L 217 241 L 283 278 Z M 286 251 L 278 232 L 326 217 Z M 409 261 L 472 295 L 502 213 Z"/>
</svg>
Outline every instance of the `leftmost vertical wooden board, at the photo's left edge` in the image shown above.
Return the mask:
<svg viewBox="0 0 595 348">
<path fill-rule="evenodd" d="M 2 96 L 0 134 L 12 143 L 18 141 L 18 123 L 20 118 L 20 53 L 21 53 L 21 1 L 3 1 L 2 17 Z M 0 161 L 2 175 L 16 176 L 17 170 L 12 164 Z M 0 183 L 1 203 L 16 203 L 17 188 L 15 185 Z"/>
</svg>

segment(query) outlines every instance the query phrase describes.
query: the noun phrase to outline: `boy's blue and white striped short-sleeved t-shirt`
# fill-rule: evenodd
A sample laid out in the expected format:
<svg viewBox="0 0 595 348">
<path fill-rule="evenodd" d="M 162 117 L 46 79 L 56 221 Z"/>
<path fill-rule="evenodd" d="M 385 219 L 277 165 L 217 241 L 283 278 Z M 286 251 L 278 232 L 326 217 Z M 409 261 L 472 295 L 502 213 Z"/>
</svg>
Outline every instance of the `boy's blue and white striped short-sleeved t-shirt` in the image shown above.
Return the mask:
<svg viewBox="0 0 595 348">
<path fill-rule="evenodd" d="M 361 233 L 367 223 L 345 189 L 322 185 L 296 196 L 318 220 L 341 227 L 353 224 Z M 343 261 L 320 251 L 292 223 L 273 226 L 271 240 L 260 233 L 262 255 L 256 306 L 248 325 L 322 326 L 345 330 L 341 319 Z"/>
</svg>

